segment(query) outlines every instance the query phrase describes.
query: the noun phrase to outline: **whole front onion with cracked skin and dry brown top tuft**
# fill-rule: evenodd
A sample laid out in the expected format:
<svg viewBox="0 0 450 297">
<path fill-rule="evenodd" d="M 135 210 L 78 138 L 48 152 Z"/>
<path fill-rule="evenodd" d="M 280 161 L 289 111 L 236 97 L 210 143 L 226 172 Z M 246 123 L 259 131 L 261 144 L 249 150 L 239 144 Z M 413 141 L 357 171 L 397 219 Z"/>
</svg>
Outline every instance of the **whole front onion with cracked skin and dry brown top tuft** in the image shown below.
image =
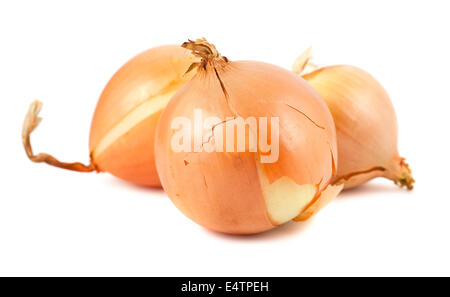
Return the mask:
<svg viewBox="0 0 450 297">
<path fill-rule="evenodd" d="M 155 142 L 162 186 L 178 209 L 206 228 L 249 234 L 306 219 L 337 195 L 342 186 L 328 187 L 337 160 L 333 118 L 312 87 L 274 65 L 231 62 L 204 39 L 183 46 L 201 62 L 163 111 Z M 215 121 L 196 128 L 199 112 Z M 227 129 L 251 118 L 266 119 L 271 132 L 278 119 L 279 133 L 268 135 L 279 144 L 270 151 L 278 150 L 276 160 L 264 163 L 267 150 L 249 144 L 264 134 L 264 121 L 247 126 L 245 150 L 237 133 L 225 150 Z M 190 125 L 179 138 L 184 151 L 174 149 L 180 119 Z"/>
</svg>

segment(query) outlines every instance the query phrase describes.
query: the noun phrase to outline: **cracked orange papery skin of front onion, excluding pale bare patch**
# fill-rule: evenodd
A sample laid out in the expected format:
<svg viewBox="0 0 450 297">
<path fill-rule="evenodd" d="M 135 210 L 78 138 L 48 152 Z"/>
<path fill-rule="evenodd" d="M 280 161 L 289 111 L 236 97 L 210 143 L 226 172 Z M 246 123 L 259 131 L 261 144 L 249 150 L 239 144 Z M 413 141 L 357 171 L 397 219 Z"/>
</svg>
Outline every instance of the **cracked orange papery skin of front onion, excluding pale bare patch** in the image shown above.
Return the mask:
<svg viewBox="0 0 450 297">
<path fill-rule="evenodd" d="M 313 88 L 277 66 L 222 57 L 203 62 L 158 124 L 155 155 L 163 188 L 178 209 L 208 229 L 231 234 L 272 229 L 282 222 L 268 211 L 259 175 L 270 184 L 288 177 L 296 185 L 316 185 L 319 199 L 337 160 L 331 114 Z M 280 117 L 278 161 L 260 164 L 260 153 L 249 151 L 174 152 L 171 122 L 177 117 L 193 122 L 195 109 L 223 121 Z"/>
</svg>

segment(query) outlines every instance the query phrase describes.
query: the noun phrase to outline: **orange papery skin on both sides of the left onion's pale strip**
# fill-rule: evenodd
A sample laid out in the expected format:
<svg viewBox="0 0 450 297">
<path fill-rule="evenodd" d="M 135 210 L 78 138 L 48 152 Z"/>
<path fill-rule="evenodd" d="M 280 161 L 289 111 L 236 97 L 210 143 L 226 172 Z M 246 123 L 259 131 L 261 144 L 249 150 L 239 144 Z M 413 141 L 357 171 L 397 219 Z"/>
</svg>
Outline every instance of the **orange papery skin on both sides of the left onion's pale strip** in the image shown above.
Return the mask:
<svg viewBox="0 0 450 297">
<path fill-rule="evenodd" d="M 161 110 L 132 127 L 101 154 L 96 155 L 96 147 L 131 110 L 162 92 L 178 90 L 195 73 L 185 75 L 195 61 L 180 46 L 155 47 L 133 58 L 111 78 L 97 104 L 89 141 L 99 171 L 136 184 L 161 185 L 153 154 Z"/>
</svg>

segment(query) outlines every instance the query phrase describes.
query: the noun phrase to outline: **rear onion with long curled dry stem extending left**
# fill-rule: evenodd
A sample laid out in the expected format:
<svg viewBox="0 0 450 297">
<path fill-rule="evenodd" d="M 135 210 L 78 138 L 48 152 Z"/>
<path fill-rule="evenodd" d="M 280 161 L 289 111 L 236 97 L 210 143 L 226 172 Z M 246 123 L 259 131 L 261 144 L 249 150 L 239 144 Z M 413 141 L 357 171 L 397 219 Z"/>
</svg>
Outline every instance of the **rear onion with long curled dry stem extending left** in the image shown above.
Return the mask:
<svg viewBox="0 0 450 297">
<path fill-rule="evenodd" d="M 160 186 L 154 158 L 154 134 L 161 111 L 194 72 L 184 75 L 197 61 L 186 49 L 160 46 L 123 65 L 103 90 L 92 119 L 90 164 L 64 163 L 48 154 L 34 155 L 30 134 L 40 122 L 42 103 L 31 104 L 22 139 L 34 162 L 81 172 L 106 171 L 126 181 Z"/>
</svg>

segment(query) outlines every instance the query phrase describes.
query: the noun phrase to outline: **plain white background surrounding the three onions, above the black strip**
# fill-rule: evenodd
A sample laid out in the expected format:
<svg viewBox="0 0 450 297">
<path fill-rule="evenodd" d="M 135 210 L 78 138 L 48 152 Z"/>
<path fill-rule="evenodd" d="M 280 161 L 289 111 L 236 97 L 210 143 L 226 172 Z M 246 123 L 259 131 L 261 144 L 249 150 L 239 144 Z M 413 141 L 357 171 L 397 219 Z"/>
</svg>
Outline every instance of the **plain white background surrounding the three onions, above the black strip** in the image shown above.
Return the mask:
<svg viewBox="0 0 450 297">
<path fill-rule="evenodd" d="M 447 1 L 2 1 L 0 273 L 5 275 L 450 274 Z M 388 90 L 413 192 L 375 180 L 307 223 L 255 236 L 207 231 L 162 190 L 33 164 L 28 104 L 44 102 L 36 152 L 88 161 L 96 101 L 135 54 L 205 36 L 232 60 L 290 68 L 308 46 Z"/>
</svg>

